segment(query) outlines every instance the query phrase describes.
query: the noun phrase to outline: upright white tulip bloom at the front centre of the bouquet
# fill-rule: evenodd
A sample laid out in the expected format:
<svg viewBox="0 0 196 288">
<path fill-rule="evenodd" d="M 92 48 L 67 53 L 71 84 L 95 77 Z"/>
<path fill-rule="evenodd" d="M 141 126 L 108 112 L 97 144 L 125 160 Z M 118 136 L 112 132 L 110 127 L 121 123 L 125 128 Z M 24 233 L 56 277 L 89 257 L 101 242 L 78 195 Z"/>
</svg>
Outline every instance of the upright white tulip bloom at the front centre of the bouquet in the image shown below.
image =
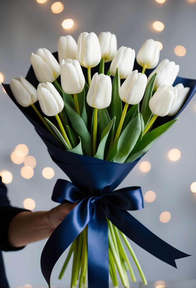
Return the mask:
<svg viewBox="0 0 196 288">
<path fill-rule="evenodd" d="M 91 107 L 103 109 L 110 105 L 112 100 L 112 81 L 104 74 L 95 73 L 87 93 L 87 103 Z"/>
</svg>

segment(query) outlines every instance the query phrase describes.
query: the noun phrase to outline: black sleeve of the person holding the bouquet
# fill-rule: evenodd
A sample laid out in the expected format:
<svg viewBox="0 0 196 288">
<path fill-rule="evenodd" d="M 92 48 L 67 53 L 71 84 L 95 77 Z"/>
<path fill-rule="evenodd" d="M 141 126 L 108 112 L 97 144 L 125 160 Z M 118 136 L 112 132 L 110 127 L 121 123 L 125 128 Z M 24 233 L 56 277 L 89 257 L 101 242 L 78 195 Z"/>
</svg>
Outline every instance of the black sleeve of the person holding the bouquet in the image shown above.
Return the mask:
<svg viewBox="0 0 196 288">
<path fill-rule="evenodd" d="M 9 199 L 7 198 L 7 188 L 1 181 L 0 176 L 0 250 L 3 251 L 16 251 L 24 247 L 11 247 L 7 240 L 8 228 L 11 220 L 18 213 L 23 211 L 29 211 L 26 209 L 12 207 Z"/>
</svg>

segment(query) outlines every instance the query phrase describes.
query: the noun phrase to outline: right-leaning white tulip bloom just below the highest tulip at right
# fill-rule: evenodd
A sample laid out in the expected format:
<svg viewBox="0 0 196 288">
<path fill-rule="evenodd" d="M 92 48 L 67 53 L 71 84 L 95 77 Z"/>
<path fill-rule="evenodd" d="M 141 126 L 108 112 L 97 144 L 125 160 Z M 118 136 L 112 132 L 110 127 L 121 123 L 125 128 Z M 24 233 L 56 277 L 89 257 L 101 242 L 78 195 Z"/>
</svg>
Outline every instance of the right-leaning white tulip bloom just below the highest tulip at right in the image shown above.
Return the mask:
<svg viewBox="0 0 196 288">
<path fill-rule="evenodd" d="M 152 76 L 157 73 L 154 82 L 154 88 L 157 89 L 162 85 L 173 85 L 179 72 L 179 65 L 176 65 L 175 62 L 164 59 L 160 64 L 153 70 L 153 72 L 148 77 L 148 82 Z"/>
</svg>

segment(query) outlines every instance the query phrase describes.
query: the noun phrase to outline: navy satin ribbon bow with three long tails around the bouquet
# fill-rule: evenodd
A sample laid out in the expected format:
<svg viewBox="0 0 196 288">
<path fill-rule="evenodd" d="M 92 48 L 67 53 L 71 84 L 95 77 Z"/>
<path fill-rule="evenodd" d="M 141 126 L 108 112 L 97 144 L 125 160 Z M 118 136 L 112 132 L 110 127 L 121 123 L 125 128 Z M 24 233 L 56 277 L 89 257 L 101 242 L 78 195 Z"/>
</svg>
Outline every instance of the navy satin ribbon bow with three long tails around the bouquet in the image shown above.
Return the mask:
<svg viewBox="0 0 196 288">
<path fill-rule="evenodd" d="M 96 195 L 96 196 L 94 196 Z M 97 190 L 85 193 L 76 185 L 58 179 L 52 200 L 58 203 L 73 202 L 78 205 L 57 226 L 48 239 L 41 255 L 41 270 L 50 287 L 54 265 L 62 253 L 88 224 L 88 287 L 109 287 L 108 226 L 110 221 L 143 249 L 176 267 L 175 259 L 190 256 L 153 234 L 127 210 L 143 208 L 140 187 L 127 187 L 113 192 Z"/>
</svg>

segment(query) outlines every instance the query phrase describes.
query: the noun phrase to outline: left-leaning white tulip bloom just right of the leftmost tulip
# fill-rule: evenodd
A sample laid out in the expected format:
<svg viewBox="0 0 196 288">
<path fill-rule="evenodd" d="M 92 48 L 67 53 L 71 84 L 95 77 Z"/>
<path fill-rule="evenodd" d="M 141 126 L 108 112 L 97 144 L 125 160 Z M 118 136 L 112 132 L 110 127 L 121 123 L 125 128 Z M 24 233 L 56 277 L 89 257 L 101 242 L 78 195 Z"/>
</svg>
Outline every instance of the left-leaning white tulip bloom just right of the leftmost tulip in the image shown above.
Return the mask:
<svg viewBox="0 0 196 288">
<path fill-rule="evenodd" d="M 63 110 L 63 99 L 52 83 L 40 83 L 37 87 L 37 97 L 45 115 L 55 116 Z"/>
</svg>

